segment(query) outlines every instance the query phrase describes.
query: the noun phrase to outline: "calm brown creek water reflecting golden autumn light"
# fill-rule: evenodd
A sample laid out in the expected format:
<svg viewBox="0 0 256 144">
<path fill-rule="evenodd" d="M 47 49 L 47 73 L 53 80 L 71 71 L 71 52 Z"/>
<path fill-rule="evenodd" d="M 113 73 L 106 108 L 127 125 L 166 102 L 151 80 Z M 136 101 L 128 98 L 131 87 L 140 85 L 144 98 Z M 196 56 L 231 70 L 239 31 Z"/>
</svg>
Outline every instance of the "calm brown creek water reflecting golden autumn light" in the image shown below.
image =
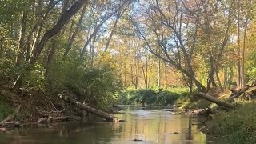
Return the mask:
<svg viewBox="0 0 256 144">
<path fill-rule="evenodd" d="M 126 122 L 68 122 L 22 128 L 0 134 L 12 144 L 214 144 L 198 131 L 197 118 L 174 115 L 160 108 L 126 106 L 118 118 Z M 178 134 L 174 134 L 177 132 Z M 142 141 L 134 141 L 139 139 Z"/>
</svg>

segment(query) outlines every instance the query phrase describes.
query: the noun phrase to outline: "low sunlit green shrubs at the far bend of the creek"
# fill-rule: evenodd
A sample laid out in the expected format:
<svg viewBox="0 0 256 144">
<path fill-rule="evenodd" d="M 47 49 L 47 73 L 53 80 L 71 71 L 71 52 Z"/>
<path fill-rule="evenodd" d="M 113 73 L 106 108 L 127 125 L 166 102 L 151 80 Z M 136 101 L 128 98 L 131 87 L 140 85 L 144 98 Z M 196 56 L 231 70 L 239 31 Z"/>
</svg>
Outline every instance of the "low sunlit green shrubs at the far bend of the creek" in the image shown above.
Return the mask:
<svg viewBox="0 0 256 144">
<path fill-rule="evenodd" d="M 126 90 L 118 98 L 122 104 L 168 105 L 181 97 L 181 94 L 167 90 L 156 92 L 151 89 Z"/>
</svg>

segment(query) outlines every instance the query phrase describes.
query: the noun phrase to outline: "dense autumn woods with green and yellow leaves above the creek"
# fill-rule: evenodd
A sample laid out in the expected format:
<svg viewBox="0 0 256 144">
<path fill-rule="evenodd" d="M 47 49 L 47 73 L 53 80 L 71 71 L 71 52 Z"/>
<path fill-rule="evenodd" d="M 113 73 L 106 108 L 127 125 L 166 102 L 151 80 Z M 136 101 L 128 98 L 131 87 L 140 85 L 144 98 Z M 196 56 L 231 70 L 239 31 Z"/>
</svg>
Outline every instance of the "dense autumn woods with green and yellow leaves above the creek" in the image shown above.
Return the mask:
<svg viewBox="0 0 256 144">
<path fill-rule="evenodd" d="M 0 88 L 19 95 L 13 98 L 18 103 L 30 99 L 63 108 L 58 94 L 66 94 L 102 110 L 122 98 L 122 90 L 157 90 L 148 103 L 171 104 L 179 94 L 162 90 L 243 89 L 256 78 L 255 5 L 251 0 L 4 0 Z M 166 95 L 175 98 L 166 103 Z M 157 98 L 163 99 L 154 102 Z"/>
</svg>

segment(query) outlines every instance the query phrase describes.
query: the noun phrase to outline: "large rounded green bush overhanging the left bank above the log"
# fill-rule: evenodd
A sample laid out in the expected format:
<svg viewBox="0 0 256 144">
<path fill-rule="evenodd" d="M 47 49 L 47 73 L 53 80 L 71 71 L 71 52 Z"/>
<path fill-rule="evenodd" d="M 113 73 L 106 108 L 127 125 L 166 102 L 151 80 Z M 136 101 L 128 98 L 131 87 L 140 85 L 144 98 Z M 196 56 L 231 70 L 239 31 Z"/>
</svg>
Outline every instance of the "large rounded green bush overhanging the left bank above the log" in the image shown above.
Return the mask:
<svg viewBox="0 0 256 144">
<path fill-rule="evenodd" d="M 114 102 L 114 94 L 122 89 L 114 68 L 107 64 L 89 67 L 78 65 L 75 60 L 55 62 L 49 78 L 54 90 L 71 91 L 78 100 L 86 100 L 101 108 Z"/>
</svg>

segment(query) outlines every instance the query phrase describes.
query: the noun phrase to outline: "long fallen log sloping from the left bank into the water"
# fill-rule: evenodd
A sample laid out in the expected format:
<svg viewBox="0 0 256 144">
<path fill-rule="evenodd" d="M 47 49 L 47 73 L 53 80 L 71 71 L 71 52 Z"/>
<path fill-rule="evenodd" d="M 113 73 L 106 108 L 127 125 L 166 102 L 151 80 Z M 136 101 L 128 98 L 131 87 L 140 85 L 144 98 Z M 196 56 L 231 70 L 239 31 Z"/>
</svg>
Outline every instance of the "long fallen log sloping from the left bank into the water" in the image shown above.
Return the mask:
<svg viewBox="0 0 256 144">
<path fill-rule="evenodd" d="M 85 104 L 82 104 L 81 102 L 74 100 L 73 98 L 63 96 L 61 94 L 58 94 L 58 96 L 59 96 L 59 98 L 62 98 L 62 100 L 64 100 L 65 102 L 69 102 L 70 104 L 73 104 L 74 106 L 78 106 L 78 108 L 80 108 L 82 110 L 86 110 L 91 114 L 94 114 L 100 118 L 104 118 L 104 119 L 106 119 L 106 121 L 114 121 L 114 119 L 115 119 L 114 115 L 108 114 L 101 110 L 96 110 L 90 106 L 87 106 Z"/>
</svg>

